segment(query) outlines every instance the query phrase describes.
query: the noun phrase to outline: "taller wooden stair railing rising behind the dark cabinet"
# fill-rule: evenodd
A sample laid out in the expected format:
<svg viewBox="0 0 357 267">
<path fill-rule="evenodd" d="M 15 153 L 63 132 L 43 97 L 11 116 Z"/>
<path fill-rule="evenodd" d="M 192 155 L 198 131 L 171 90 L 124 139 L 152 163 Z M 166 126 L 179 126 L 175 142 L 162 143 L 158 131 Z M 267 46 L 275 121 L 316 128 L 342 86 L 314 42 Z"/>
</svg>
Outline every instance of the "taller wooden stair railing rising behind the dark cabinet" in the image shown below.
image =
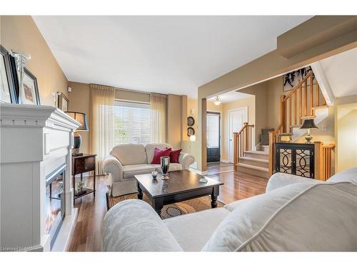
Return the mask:
<svg viewBox="0 0 357 267">
<path fill-rule="evenodd" d="M 274 169 L 274 142 L 278 142 L 281 133 L 292 132 L 292 127 L 298 127 L 303 119 L 315 116 L 315 109 L 327 107 L 325 98 L 320 90 L 313 71 L 301 80 L 288 95 L 280 97 L 279 125 L 273 132 L 269 132 L 269 174 Z"/>
</svg>

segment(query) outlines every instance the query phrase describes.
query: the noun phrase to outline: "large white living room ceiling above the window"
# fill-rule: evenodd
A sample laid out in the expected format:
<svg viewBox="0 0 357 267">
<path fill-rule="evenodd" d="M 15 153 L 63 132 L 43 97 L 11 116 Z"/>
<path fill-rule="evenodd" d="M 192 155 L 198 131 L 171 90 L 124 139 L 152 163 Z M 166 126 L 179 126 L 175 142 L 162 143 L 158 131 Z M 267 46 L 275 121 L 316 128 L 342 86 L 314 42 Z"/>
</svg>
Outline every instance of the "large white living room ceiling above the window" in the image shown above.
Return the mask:
<svg viewBox="0 0 357 267">
<path fill-rule="evenodd" d="M 34 16 L 68 80 L 197 97 L 311 16 Z"/>
</svg>

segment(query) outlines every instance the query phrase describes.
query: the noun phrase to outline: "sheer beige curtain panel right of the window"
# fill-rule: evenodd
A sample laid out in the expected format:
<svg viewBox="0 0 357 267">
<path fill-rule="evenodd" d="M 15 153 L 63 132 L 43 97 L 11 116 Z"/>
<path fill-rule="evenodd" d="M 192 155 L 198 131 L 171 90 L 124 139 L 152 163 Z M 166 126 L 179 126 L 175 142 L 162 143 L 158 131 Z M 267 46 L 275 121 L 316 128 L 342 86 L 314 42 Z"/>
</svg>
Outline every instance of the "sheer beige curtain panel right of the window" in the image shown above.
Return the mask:
<svg viewBox="0 0 357 267">
<path fill-rule="evenodd" d="M 166 95 L 150 94 L 151 142 L 166 142 L 166 106 Z"/>
</svg>

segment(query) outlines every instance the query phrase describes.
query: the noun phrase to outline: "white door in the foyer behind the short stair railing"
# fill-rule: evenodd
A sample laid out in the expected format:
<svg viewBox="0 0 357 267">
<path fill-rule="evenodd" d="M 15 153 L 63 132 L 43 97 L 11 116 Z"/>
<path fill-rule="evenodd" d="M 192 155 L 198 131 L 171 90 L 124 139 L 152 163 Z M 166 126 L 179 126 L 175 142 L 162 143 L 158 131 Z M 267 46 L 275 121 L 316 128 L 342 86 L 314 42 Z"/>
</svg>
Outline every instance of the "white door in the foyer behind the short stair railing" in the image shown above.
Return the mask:
<svg viewBox="0 0 357 267">
<path fill-rule="evenodd" d="M 239 132 L 248 122 L 248 107 L 228 111 L 228 161 L 233 163 L 233 132 Z"/>
</svg>

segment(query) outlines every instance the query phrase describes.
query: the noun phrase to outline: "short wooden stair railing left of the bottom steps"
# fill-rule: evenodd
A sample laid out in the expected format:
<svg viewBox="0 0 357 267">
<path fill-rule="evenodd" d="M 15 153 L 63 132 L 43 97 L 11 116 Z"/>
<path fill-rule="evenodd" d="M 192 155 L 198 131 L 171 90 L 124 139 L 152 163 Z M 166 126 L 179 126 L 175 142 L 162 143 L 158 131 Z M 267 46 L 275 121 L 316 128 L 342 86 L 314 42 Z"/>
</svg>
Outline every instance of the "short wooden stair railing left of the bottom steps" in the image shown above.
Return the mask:
<svg viewBox="0 0 357 267">
<path fill-rule="evenodd" d="M 233 169 L 235 171 L 239 157 L 243 157 L 244 151 L 251 150 L 251 128 L 253 127 L 254 125 L 248 125 L 248 122 L 244 122 L 239 132 L 233 132 Z"/>
</svg>

